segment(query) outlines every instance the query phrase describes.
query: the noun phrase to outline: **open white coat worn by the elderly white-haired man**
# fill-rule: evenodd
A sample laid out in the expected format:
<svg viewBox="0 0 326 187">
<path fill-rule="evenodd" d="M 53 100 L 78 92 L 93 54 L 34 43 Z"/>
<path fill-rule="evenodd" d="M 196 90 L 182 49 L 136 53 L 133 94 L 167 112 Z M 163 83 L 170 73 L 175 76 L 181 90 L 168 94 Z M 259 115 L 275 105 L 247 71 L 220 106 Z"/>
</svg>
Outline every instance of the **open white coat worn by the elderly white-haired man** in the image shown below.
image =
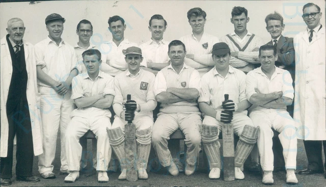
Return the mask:
<svg viewBox="0 0 326 187">
<path fill-rule="evenodd" d="M 9 86 L 12 75 L 12 61 L 6 36 L 1 39 L 1 157 L 7 157 L 8 153 L 8 119 L 6 103 L 8 99 Z M 40 155 L 42 149 L 42 131 L 41 131 L 41 116 L 39 111 L 39 96 L 36 82 L 36 61 L 34 54 L 34 46 L 31 43 L 23 41 L 25 51 L 26 70 L 28 73 L 27 82 L 27 100 L 29 102 L 29 110 L 32 124 L 34 154 Z"/>
</svg>

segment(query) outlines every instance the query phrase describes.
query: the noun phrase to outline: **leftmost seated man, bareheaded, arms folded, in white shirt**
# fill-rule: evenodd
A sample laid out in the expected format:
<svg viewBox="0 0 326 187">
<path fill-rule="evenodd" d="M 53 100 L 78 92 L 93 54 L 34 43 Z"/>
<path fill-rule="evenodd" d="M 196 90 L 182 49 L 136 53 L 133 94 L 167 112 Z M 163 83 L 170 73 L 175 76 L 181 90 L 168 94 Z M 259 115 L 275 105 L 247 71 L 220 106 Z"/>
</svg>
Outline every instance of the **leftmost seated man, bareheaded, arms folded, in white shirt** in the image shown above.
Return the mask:
<svg viewBox="0 0 326 187">
<path fill-rule="evenodd" d="M 65 182 L 74 182 L 79 177 L 82 146 L 79 138 L 88 130 L 92 130 L 97 139 L 98 182 L 107 182 L 107 167 L 111 158 L 111 147 L 108 142 L 106 127 L 111 126 L 111 112 L 107 109 L 112 105 L 114 78 L 99 70 L 101 53 L 97 49 L 83 52 L 83 61 L 87 69 L 73 78 L 71 99 L 77 109 L 71 113 L 71 121 L 66 131 L 66 152 L 69 175 Z"/>
</svg>

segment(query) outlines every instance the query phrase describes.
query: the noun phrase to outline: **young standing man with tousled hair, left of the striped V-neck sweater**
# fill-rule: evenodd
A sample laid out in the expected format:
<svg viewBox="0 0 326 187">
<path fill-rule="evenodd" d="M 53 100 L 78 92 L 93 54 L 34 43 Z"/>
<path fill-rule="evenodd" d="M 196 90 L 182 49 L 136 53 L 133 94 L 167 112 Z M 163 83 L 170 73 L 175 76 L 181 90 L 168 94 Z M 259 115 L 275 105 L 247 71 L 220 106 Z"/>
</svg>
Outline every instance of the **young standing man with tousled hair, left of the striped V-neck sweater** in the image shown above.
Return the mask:
<svg viewBox="0 0 326 187">
<path fill-rule="evenodd" d="M 212 47 L 220 42 L 218 37 L 204 32 L 206 23 L 206 12 L 201 8 L 192 8 L 187 12 L 188 22 L 192 26 L 192 33 L 181 37 L 179 40 L 184 43 L 187 55 L 184 63 L 195 68 L 200 76 L 214 67 L 211 58 Z"/>
</svg>

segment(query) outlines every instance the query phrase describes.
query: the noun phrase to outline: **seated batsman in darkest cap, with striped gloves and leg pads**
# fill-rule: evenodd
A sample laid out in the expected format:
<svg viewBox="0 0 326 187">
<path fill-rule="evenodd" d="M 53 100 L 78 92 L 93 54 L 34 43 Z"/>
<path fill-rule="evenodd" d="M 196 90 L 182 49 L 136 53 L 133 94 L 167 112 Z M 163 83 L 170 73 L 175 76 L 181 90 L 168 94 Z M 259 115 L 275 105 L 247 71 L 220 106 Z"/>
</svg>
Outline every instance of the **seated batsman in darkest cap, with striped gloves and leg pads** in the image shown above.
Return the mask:
<svg viewBox="0 0 326 187">
<path fill-rule="evenodd" d="M 246 74 L 229 65 L 230 48 L 224 43 L 213 45 L 212 58 L 215 67 L 202 76 L 202 91 L 198 99 L 204 115 L 202 142 L 207 154 L 210 179 L 220 178 L 221 158 L 219 132 L 223 123 L 232 123 L 234 133 L 240 137 L 236 146 L 235 178 L 244 179 L 240 170 L 257 141 L 259 128 L 247 116 L 250 102 L 246 98 Z M 229 100 L 224 100 L 229 94 Z"/>
</svg>

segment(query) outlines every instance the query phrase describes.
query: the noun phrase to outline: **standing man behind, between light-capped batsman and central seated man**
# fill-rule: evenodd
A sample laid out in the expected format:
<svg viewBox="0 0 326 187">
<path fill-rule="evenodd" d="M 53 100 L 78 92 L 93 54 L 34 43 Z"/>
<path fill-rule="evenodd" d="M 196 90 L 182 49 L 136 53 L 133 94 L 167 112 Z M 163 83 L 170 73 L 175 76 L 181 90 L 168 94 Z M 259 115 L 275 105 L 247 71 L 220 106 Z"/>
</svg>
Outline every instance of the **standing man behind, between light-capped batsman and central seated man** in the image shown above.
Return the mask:
<svg viewBox="0 0 326 187">
<path fill-rule="evenodd" d="M 167 21 L 163 16 L 155 14 L 149 20 L 148 29 L 152 33 L 149 41 L 141 44 L 139 47 L 142 49 L 144 61 L 142 67 L 144 70 L 150 71 L 155 75 L 157 72 L 166 66 L 170 65 L 168 49 L 169 43 L 163 40 L 163 34 L 167 29 Z"/>
</svg>

